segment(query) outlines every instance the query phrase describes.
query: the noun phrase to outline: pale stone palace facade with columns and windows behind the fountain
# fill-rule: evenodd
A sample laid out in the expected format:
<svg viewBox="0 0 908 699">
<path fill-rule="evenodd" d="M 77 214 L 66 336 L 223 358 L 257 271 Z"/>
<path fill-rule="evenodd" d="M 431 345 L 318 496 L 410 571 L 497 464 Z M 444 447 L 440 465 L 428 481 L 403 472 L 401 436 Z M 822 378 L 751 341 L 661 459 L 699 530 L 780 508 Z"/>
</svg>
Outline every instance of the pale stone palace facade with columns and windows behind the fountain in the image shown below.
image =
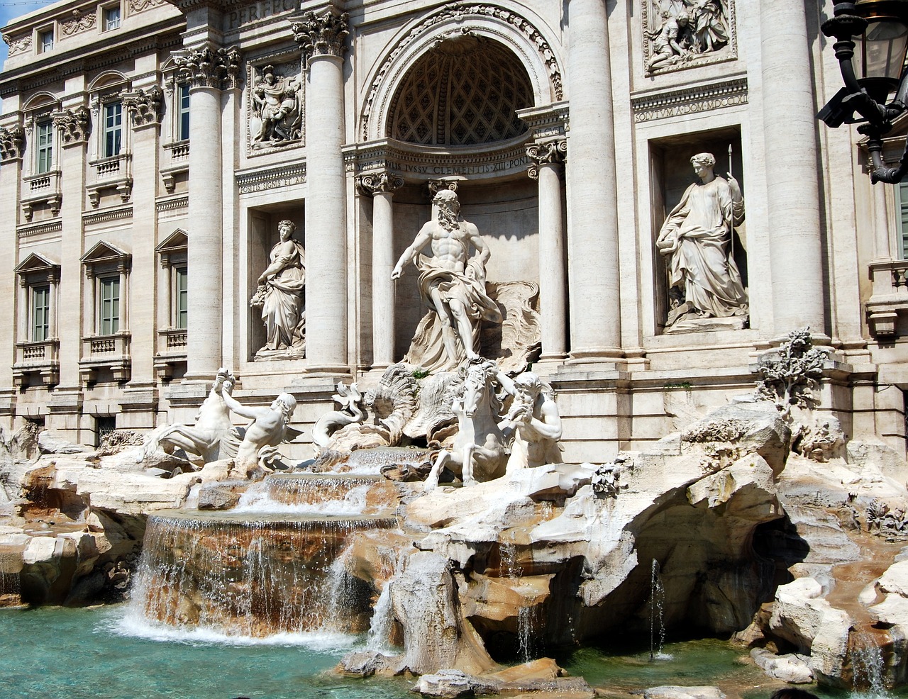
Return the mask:
<svg viewBox="0 0 908 699">
<path fill-rule="evenodd" d="M 831 348 L 821 409 L 903 453 L 900 192 L 871 187 L 856 133 L 815 121 L 840 85 L 831 13 L 64 0 L 25 15 L 0 74 L 0 424 L 94 444 L 192 421 L 224 366 L 243 402 L 294 395 L 308 456 L 334 383 L 368 386 L 407 354 L 426 308 L 412 265 L 391 272 L 431 193 L 456 188 L 489 288 L 522 285 L 566 459 L 752 392 L 756 359 L 804 326 Z M 694 172 L 697 153 L 715 164 Z"/>
</svg>

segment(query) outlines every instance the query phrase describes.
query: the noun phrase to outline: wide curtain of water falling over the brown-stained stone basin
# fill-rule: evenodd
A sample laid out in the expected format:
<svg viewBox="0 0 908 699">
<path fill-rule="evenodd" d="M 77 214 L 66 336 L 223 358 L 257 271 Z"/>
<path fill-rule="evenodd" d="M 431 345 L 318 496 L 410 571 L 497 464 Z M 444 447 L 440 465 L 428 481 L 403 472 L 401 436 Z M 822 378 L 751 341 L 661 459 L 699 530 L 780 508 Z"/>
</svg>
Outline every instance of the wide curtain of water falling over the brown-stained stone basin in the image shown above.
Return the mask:
<svg viewBox="0 0 908 699">
<path fill-rule="evenodd" d="M 364 630 L 369 595 L 335 562 L 351 533 L 396 525 L 392 517 L 155 515 L 131 615 L 236 636 Z"/>
</svg>

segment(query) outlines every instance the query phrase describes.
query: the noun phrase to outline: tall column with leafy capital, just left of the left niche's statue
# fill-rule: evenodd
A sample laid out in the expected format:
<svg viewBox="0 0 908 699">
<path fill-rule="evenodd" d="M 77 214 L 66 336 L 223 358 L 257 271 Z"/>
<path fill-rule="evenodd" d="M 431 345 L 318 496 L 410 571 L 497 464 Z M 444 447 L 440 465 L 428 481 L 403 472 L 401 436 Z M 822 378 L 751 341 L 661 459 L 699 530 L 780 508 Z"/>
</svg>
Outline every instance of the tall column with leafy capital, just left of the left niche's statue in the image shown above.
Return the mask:
<svg viewBox="0 0 908 699">
<path fill-rule="evenodd" d="M 221 91 L 235 84 L 240 54 L 202 46 L 174 61 L 189 80 L 189 329 L 187 379 L 210 379 L 222 348 Z"/>
</svg>

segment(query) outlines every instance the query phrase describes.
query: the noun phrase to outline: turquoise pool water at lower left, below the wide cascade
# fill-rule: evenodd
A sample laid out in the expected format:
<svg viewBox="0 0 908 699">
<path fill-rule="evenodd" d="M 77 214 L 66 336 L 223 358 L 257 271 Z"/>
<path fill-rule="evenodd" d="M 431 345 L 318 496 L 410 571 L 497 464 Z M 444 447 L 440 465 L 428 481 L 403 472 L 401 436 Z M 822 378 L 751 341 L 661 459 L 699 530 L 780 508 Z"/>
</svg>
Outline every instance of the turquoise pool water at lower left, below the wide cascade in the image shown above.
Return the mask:
<svg viewBox="0 0 908 699">
<path fill-rule="evenodd" d="M 128 607 L 0 610 L 2 699 L 402 699 L 412 682 L 325 671 L 361 640 L 285 635 L 237 645 L 137 625 Z"/>
</svg>

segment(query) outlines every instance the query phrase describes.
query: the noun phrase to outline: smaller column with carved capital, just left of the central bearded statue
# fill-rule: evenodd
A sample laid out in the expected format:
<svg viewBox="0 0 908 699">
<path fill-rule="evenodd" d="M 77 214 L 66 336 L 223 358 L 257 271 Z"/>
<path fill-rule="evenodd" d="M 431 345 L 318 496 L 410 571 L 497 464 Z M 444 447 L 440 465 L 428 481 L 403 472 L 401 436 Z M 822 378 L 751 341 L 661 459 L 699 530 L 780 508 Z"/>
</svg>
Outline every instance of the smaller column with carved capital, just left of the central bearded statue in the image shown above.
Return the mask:
<svg viewBox="0 0 908 699">
<path fill-rule="evenodd" d="M 394 192 L 403 178 L 390 172 L 370 172 L 357 181 L 360 192 L 372 197 L 372 369 L 394 363 Z"/>
</svg>

